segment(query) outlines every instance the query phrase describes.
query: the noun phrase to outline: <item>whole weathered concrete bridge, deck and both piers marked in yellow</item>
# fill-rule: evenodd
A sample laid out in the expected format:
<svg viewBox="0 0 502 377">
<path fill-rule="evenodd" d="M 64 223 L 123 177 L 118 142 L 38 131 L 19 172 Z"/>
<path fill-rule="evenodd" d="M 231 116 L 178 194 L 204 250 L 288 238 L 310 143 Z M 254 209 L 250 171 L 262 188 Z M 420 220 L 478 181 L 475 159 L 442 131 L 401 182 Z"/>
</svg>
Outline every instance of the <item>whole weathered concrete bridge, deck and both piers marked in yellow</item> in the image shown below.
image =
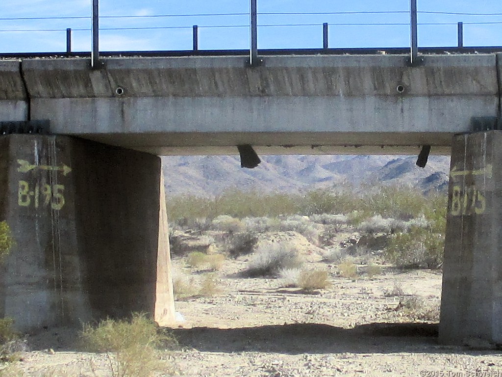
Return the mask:
<svg viewBox="0 0 502 377">
<path fill-rule="evenodd" d="M 268 55 L 251 67 L 245 56 L 138 56 L 91 69 L 78 57 L 0 60 L 0 215 L 17 241 L 0 266 L 0 316 L 24 330 L 131 311 L 172 322 L 157 155 L 431 146 L 451 152 L 456 171 L 441 339 L 502 343 L 502 54 L 408 61 Z M 33 128 L 47 135 L 18 134 Z"/>
</svg>

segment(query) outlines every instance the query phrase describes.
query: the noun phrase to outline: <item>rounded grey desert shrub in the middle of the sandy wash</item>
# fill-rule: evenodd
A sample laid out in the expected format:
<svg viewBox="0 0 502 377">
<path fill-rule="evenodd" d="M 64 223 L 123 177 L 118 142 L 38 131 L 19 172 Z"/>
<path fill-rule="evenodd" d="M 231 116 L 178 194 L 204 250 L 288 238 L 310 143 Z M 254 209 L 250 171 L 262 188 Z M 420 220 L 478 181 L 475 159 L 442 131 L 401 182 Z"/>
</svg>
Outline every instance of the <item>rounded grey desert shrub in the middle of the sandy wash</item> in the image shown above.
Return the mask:
<svg viewBox="0 0 502 377">
<path fill-rule="evenodd" d="M 281 269 L 299 267 L 301 264 L 296 248 L 283 243 L 263 242 L 242 273 L 249 277 L 275 275 Z"/>
</svg>

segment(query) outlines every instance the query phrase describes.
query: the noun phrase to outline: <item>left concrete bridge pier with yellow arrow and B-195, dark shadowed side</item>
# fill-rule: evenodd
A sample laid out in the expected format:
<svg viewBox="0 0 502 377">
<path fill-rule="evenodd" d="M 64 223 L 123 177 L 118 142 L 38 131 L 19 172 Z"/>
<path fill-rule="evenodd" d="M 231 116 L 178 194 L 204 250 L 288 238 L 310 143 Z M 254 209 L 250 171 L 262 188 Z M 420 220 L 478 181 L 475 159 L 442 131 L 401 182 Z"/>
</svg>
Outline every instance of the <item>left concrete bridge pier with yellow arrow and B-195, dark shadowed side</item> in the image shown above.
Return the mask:
<svg viewBox="0 0 502 377">
<path fill-rule="evenodd" d="M 156 296 L 174 316 L 157 278 L 169 253 L 158 157 L 65 136 L 2 136 L 0 147 L 0 216 L 16 240 L 0 317 L 23 331 L 79 325 L 153 314 Z"/>
</svg>

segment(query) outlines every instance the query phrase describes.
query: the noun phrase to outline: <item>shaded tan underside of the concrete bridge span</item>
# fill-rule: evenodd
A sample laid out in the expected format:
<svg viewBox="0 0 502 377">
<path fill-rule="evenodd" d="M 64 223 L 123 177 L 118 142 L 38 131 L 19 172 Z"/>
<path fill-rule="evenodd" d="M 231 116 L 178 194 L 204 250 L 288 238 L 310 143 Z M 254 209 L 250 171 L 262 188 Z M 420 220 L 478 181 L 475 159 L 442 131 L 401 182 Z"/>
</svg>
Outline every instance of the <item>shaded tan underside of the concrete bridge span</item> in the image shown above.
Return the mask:
<svg viewBox="0 0 502 377">
<path fill-rule="evenodd" d="M 213 132 L 169 134 L 82 134 L 80 137 L 156 155 L 231 155 L 249 144 L 260 155 L 271 154 L 418 154 L 449 155 L 453 134 L 376 132 Z M 390 144 L 390 142 L 395 144 Z"/>
</svg>

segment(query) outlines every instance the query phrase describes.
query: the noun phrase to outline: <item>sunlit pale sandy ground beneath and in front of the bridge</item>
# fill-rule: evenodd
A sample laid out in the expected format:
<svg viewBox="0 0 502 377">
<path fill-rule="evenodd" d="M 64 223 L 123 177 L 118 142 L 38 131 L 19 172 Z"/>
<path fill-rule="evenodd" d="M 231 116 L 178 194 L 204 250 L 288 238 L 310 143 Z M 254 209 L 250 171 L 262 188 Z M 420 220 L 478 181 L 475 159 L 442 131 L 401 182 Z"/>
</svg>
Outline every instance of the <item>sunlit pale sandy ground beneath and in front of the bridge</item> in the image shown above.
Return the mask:
<svg viewBox="0 0 502 377">
<path fill-rule="evenodd" d="M 173 263 L 186 268 L 183 259 Z M 238 277 L 245 263 L 242 257 L 225 262 L 220 294 L 176 302 L 185 319 L 173 330 L 180 346 L 161 352 L 157 375 L 502 376 L 500 351 L 439 345 L 437 319 L 400 309 L 403 297 L 437 307 L 437 271 L 386 267 L 382 275 L 352 280 L 338 276 L 334 265 L 312 261 L 328 268 L 332 286 L 306 293 L 275 278 Z M 404 296 L 393 296 L 395 287 Z M 32 351 L 0 375 L 112 375 L 107 355 L 77 352 L 75 340 L 75 330 L 64 328 L 32 334 Z"/>
</svg>

